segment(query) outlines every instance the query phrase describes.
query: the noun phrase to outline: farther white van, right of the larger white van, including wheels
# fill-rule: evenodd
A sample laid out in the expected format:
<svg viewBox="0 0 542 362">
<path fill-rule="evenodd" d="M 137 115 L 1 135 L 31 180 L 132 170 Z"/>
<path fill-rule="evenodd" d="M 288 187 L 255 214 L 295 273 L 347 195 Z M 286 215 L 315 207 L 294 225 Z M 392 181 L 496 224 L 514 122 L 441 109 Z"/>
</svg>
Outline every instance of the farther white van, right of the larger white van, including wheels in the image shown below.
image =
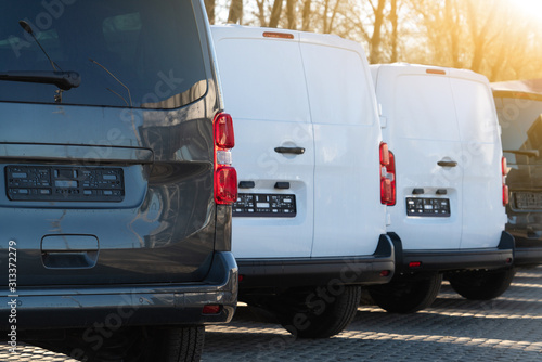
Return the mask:
<svg viewBox="0 0 542 362">
<path fill-rule="evenodd" d="M 372 65 L 384 141 L 395 152 L 397 204 L 388 207 L 397 270 L 371 287 L 391 312 L 429 306 L 442 273 L 469 299 L 508 287 L 513 237 L 504 232 L 507 186 L 488 79 L 470 70 Z"/>
</svg>

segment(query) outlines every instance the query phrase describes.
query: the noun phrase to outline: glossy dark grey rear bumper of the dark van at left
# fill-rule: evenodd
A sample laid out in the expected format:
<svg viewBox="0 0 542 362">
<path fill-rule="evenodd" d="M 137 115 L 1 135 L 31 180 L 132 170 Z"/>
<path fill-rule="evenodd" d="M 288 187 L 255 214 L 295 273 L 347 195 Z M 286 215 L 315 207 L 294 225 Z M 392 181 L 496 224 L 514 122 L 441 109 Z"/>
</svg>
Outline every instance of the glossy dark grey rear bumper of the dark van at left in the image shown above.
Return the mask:
<svg viewBox="0 0 542 362">
<path fill-rule="evenodd" d="M 201 325 L 229 322 L 237 303 L 237 266 L 231 253 L 216 253 L 206 280 L 194 284 L 20 287 L 0 297 L 0 319 L 8 321 L 16 301 L 16 328 L 128 325 Z M 206 305 L 222 306 L 203 314 Z M 7 328 L 7 326 L 3 324 Z M 1 327 L 0 327 L 1 328 Z"/>
</svg>

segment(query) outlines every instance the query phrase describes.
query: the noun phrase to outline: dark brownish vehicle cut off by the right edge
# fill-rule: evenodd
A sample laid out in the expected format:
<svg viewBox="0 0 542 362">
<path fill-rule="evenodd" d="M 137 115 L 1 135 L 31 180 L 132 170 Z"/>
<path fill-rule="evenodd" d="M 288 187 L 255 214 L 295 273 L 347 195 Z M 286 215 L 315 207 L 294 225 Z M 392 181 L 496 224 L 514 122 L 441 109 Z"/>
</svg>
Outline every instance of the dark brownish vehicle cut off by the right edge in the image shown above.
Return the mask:
<svg viewBox="0 0 542 362">
<path fill-rule="evenodd" d="M 518 83 L 493 83 L 503 152 L 508 165 L 506 231 L 516 241 L 514 263 L 542 263 L 542 93 Z"/>
</svg>

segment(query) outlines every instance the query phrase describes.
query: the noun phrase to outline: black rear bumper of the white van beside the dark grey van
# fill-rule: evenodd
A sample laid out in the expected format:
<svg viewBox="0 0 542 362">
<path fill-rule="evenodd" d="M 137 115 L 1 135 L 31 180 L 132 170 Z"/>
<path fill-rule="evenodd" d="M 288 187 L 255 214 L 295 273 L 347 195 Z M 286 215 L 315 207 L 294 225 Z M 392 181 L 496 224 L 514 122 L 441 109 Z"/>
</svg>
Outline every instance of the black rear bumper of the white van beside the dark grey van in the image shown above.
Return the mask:
<svg viewBox="0 0 542 362">
<path fill-rule="evenodd" d="M 380 235 L 371 256 L 288 259 L 237 259 L 240 289 L 335 284 L 384 284 L 395 271 L 388 235 Z"/>
</svg>

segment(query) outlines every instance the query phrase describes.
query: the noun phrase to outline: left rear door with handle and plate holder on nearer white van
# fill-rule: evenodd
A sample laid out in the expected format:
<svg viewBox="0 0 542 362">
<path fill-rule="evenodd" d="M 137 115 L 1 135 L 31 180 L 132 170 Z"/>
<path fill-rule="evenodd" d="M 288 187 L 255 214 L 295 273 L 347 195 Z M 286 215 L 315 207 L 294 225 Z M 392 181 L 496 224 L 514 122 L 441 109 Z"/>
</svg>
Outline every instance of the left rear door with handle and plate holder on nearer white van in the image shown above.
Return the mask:
<svg viewBox="0 0 542 362">
<path fill-rule="evenodd" d="M 236 258 L 309 257 L 314 146 L 299 36 L 211 29 L 225 109 L 240 140 L 233 151 L 240 181 L 233 253 Z"/>
</svg>

